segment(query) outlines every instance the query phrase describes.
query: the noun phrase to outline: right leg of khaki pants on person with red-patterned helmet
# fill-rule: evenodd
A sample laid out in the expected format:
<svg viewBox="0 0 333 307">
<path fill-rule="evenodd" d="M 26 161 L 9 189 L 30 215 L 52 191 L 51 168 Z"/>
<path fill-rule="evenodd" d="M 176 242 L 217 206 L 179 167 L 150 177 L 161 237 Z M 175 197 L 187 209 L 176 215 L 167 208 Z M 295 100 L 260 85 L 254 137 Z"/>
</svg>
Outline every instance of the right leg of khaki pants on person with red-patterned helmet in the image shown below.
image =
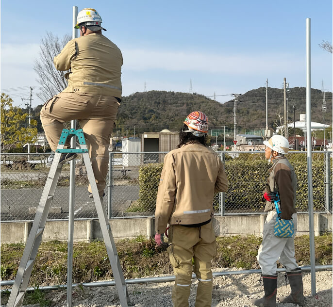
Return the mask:
<svg viewBox="0 0 333 307">
<path fill-rule="evenodd" d="M 199 284 L 196 307 L 210 307 L 212 304 L 213 273 L 212 259 L 216 256 L 216 239 L 212 223 L 201 226 L 200 241 L 193 247 L 194 272 Z"/>
</svg>

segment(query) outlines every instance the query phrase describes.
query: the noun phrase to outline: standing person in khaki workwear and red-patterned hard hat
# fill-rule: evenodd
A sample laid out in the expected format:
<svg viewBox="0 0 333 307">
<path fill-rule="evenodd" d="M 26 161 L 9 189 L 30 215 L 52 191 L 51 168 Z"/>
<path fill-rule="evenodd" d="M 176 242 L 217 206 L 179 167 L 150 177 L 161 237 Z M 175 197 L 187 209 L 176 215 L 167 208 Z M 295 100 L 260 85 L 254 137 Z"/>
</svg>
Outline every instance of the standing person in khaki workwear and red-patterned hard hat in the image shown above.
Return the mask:
<svg viewBox="0 0 333 307">
<path fill-rule="evenodd" d="M 190 113 L 180 130 L 180 143 L 164 159 L 155 211 L 155 241 L 167 247 L 176 275 L 175 307 L 188 307 L 192 259 L 199 280 L 196 307 L 212 303 L 211 260 L 216 256 L 212 218 L 214 193 L 225 192 L 228 181 L 219 156 L 206 145 L 208 118 Z M 168 242 L 163 235 L 168 229 Z"/>
</svg>

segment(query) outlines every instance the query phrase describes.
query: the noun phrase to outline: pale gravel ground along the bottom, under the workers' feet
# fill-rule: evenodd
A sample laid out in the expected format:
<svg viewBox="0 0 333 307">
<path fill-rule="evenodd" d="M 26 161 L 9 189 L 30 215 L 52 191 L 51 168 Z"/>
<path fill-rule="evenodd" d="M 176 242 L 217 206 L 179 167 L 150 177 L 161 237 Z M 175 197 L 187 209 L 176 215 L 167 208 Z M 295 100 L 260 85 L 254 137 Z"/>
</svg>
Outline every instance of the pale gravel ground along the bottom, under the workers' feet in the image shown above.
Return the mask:
<svg viewBox="0 0 333 307">
<path fill-rule="evenodd" d="M 226 271 L 221 269 L 216 271 Z M 236 268 L 228 269 L 235 271 Z M 250 307 L 251 298 L 262 297 L 264 287 L 260 285 L 259 274 L 218 276 L 213 279 L 212 307 Z M 128 291 L 133 306 L 136 307 L 172 307 L 171 291 L 174 282 L 130 284 Z M 309 272 L 303 272 L 305 307 L 332 307 L 332 272 L 316 273 L 315 296 L 311 296 L 311 278 Z M 198 281 L 193 279 L 189 306 L 195 306 L 195 296 Z M 286 286 L 284 274 L 278 277 L 278 296 L 289 294 L 289 284 Z M 66 307 L 67 292 L 51 291 L 46 295 L 52 299 L 52 306 Z M 39 305 L 26 305 L 37 307 Z M 73 307 L 119 307 L 116 287 L 83 288 L 76 287 L 72 295 Z M 297 305 L 298 306 L 298 305 Z M 1 306 L 2 307 L 2 306 Z M 282 304 L 277 300 L 277 307 L 295 307 L 294 304 Z"/>
</svg>

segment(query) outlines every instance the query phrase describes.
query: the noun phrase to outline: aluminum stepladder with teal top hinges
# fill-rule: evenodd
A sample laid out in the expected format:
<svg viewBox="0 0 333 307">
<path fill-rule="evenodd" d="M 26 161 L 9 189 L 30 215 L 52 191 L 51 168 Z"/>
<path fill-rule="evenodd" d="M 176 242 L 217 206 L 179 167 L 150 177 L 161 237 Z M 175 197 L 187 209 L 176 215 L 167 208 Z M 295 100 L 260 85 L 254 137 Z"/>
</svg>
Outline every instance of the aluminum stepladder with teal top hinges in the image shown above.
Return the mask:
<svg viewBox="0 0 333 307">
<path fill-rule="evenodd" d="M 64 149 L 67 137 L 76 135 L 78 137 L 81 149 Z M 47 221 L 47 217 L 52 204 L 55 189 L 58 184 L 63 164 L 59 164 L 60 156 L 62 153 L 77 153 L 82 154 L 83 161 L 86 167 L 87 176 L 94 196 L 94 202 L 100 221 L 100 228 L 104 238 L 106 250 L 110 260 L 112 273 L 115 278 L 115 283 L 119 295 L 120 304 L 122 307 L 131 306 L 130 297 L 125 284 L 125 278 L 121 269 L 120 261 L 117 254 L 115 241 L 112 235 L 109 220 L 103 205 L 103 200 L 100 198 L 95 176 L 91 166 L 87 145 L 85 144 L 82 129 L 63 129 L 59 140 L 59 145 L 54 154 L 53 162 L 50 168 L 48 178 L 41 196 L 38 209 L 33 221 L 33 226 L 29 233 L 29 237 L 20 261 L 15 282 L 9 296 L 7 307 L 21 306 L 24 294 L 27 290 L 31 272 L 33 270 L 33 263 L 36 258 L 40 242 L 42 240 L 43 231 Z"/>
</svg>

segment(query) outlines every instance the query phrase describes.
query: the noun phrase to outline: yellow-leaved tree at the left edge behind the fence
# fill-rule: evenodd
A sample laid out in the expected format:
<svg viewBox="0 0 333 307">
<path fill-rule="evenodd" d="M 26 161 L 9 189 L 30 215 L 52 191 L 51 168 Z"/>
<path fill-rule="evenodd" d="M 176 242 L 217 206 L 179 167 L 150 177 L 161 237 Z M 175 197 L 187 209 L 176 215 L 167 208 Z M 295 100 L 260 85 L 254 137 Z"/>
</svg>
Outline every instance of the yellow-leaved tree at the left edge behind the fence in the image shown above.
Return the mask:
<svg viewBox="0 0 333 307">
<path fill-rule="evenodd" d="M 30 127 L 26 123 L 28 113 L 13 106 L 13 100 L 1 93 L 1 150 L 33 143 L 37 135 L 37 121 L 32 119 Z"/>
</svg>

